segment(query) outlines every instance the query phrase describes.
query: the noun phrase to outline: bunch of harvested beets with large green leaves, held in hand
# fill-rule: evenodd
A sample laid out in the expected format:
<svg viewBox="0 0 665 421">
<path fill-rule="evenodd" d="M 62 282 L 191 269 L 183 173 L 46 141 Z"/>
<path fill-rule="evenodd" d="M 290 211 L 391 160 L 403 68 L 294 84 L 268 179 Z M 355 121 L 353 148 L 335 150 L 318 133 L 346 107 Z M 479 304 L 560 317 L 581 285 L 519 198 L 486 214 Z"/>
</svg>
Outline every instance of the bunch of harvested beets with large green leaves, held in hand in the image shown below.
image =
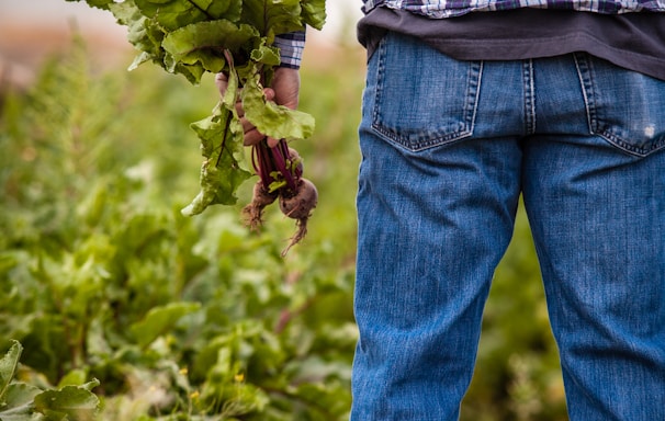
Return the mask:
<svg viewBox="0 0 665 421">
<path fill-rule="evenodd" d="M 274 148 L 268 147 L 266 140 L 252 147 L 252 167 L 261 184 L 255 191 L 267 192 L 267 197 L 283 197 L 283 203 L 291 204 L 281 206 L 298 226 L 289 247 L 298 242 L 316 206 L 317 192 L 314 184 L 302 179 L 300 157 L 292 156 L 293 149 L 286 145 L 309 137 L 314 118 L 268 101 L 263 88 L 271 84 L 280 65 L 280 52 L 273 45 L 275 36 L 305 31 L 306 26 L 322 29 L 325 0 L 86 1 L 111 11 L 119 23 L 128 27 L 128 39 L 139 50 L 129 69 L 151 61 L 168 72 L 183 75 L 194 84 L 205 72 L 228 76 L 228 88 L 212 115 L 192 124 L 204 161 L 201 191 L 182 214 L 192 216 L 210 205 L 235 204 L 238 187 L 251 177 L 252 168 L 245 163 L 244 130 L 236 111 L 236 104 L 241 103 L 245 118 L 264 136 L 280 139 Z M 260 208 L 248 208 L 247 213 L 249 225 L 257 228 Z"/>
</svg>

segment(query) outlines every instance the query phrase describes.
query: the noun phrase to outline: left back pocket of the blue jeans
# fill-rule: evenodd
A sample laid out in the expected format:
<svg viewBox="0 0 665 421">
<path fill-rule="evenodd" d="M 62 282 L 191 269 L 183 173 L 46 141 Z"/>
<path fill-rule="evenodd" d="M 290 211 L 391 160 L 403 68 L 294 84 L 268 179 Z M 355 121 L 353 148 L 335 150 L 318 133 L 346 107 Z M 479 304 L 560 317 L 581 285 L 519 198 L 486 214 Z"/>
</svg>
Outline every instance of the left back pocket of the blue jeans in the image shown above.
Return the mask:
<svg viewBox="0 0 665 421">
<path fill-rule="evenodd" d="M 368 72 L 372 129 L 412 151 L 471 136 L 482 69 L 482 61 L 458 61 L 421 41 L 387 33 Z"/>
</svg>

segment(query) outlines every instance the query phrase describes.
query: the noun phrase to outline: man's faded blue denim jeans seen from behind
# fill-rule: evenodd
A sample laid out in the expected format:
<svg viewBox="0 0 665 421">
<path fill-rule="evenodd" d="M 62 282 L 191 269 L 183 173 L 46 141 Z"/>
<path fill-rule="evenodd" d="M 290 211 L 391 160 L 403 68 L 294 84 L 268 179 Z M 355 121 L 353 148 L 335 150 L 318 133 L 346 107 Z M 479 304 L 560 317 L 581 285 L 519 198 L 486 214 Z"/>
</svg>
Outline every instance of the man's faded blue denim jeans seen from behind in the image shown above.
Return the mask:
<svg viewBox="0 0 665 421">
<path fill-rule="evenodd" d="M 665 420 L 664 81 L 391 33 L 360 143 L 353 421 L 459 418 L 520 194 L 571 420 Z"/>
</svg>

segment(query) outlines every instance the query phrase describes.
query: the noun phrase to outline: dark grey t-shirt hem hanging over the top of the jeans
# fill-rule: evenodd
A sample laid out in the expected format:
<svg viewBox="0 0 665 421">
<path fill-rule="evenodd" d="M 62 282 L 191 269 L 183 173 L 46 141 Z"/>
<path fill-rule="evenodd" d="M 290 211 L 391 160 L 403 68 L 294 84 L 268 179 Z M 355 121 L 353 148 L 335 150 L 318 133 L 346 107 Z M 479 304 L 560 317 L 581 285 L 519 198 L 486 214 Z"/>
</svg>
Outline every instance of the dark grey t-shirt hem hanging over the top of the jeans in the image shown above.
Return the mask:
<svg viewBox="0 0 665 421">
<path fill-rule="evenodd" d="M 665 80 L 665 13 L 607 15 L 519 9 L 428 19 L 387 8 L 358 24 L 358 39 L 373 52 L 385 31 L 421 38 L 461 60 L 516 60 L 586 52 Z"/>
</svg>

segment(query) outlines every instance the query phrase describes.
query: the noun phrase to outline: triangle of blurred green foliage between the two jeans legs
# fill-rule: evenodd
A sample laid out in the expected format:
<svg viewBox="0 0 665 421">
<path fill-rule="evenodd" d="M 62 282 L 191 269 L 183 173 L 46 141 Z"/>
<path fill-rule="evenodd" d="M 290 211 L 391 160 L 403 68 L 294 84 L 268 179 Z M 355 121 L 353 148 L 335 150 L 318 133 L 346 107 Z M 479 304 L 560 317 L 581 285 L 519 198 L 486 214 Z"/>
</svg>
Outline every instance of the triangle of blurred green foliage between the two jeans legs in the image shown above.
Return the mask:
<svg viewBox="0 0 665 421">
<path fill-rule="evenodd" d="M 567 420 L 559 352 L 523 207 L 485 308 L 462 420 Z"/>
</svg>

